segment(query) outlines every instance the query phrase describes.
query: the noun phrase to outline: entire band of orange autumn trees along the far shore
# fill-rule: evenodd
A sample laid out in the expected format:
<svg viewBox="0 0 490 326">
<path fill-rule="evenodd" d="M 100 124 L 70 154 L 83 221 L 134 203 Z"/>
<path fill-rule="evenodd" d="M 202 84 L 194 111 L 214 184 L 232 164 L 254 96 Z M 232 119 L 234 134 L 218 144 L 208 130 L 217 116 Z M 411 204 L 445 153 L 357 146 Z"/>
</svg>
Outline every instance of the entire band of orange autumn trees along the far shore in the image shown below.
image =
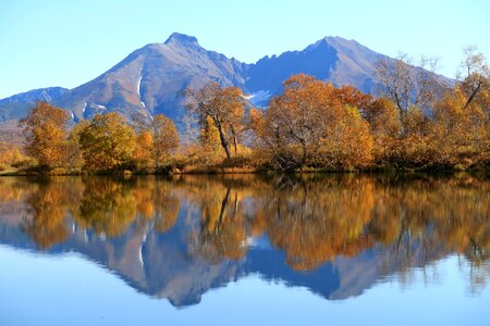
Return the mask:
<svg viewBox="0 0 490 326">
<path fill-rule="evenodd" d="M 198 137 L 175 124 L 117 112 L 74 124 L 37 102 L 20 122 L 24 146 L 0 143 L 0 174 L 465 171 L 490 167 L 490 73 L 473 47 L 457 79 L 436 62 L 381 60 L 379 97 L 298 74 L 268 108 L 237 87 L 186 89 Z"/>
</svg>

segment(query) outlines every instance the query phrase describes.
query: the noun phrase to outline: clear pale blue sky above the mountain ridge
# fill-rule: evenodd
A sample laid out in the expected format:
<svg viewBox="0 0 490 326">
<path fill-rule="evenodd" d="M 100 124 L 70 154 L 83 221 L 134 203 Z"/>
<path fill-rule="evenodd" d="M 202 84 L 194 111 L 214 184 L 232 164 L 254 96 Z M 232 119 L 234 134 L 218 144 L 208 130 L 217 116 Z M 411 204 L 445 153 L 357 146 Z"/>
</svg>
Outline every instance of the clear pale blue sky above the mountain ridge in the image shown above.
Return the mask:
<svg viewBox="0 0 490 326">
<path fill-rule="evenodd" d="M 453 77 L 464 46 L 490 57 L 490 1 L 0 0 L 0 98 L 76 87 L 172 32 L 247 63 L 341 36 Z"/>
</svg>

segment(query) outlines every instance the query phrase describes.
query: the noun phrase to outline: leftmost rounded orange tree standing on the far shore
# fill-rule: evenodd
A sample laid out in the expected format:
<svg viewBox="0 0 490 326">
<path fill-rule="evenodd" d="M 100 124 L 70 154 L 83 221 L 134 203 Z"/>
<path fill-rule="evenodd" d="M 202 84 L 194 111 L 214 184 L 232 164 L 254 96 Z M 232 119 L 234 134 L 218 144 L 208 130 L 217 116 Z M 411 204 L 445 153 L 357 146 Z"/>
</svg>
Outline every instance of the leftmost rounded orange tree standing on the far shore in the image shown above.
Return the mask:
<svg viewBox="0 0 490 326">
<path fill-rule="evenodd" d="M 35 108 L 20 122 L 25 136 L 25 151 L 42 168 L 62 166 L 69 122 L 66 111 L 42 101 L 36 102 Z"/>
</svg>

